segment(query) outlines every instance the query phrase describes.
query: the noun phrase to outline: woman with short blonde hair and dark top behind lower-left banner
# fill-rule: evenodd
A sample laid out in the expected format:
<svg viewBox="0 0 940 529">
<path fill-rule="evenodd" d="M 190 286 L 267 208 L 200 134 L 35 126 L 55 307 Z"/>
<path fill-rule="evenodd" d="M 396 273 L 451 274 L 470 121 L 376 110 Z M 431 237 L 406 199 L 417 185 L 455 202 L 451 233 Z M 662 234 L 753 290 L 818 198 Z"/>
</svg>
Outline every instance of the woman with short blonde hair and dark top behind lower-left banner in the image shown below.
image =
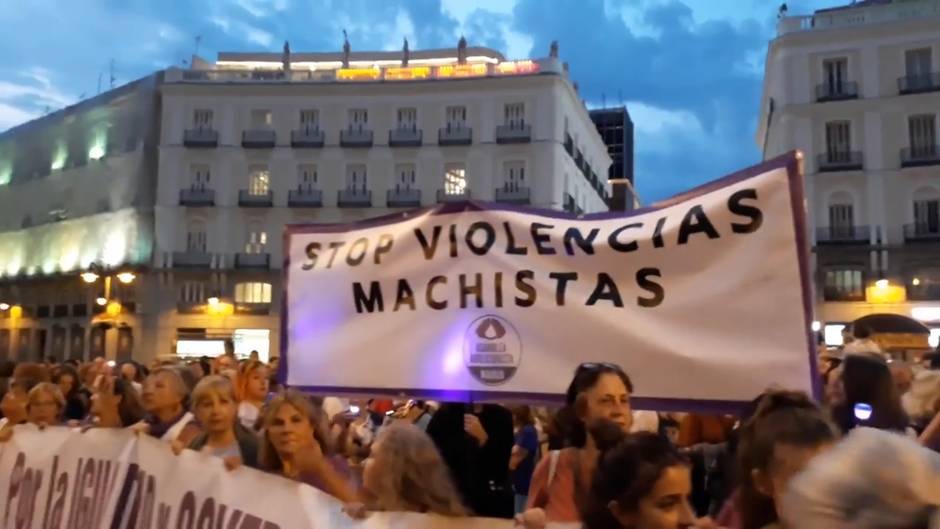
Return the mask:
<svg viewBox="0 0 940 529">
<path fill-rule="evenodd" d="M 254 431 L 238 422 L 235 390 L 229 379 L 212 375 L 196 384 L 193 390 L 193 413 L 203 426 L 188 448 L 220 457 L 226 467 L 258 468 L 258 438 Z M 175 445 L 179 453 L 181 445 Z"/>
</svg>

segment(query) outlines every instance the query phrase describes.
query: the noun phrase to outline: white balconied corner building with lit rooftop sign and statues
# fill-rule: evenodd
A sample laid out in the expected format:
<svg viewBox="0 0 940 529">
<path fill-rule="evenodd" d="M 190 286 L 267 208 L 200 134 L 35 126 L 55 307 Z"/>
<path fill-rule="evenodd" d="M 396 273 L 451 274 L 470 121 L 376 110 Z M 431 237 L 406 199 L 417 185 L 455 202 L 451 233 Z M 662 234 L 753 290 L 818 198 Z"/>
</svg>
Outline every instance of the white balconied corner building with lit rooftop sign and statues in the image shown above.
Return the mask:
<svg viewBox="0 0 940 529">
<path fill-rule="evenodd" d="M 164 72 L 159 96 L 140 360 L 277 354 L 287 224 L 468 199 L 606 209 L 610 156 L 557 57 L 222 53 Z"/>
</svg>

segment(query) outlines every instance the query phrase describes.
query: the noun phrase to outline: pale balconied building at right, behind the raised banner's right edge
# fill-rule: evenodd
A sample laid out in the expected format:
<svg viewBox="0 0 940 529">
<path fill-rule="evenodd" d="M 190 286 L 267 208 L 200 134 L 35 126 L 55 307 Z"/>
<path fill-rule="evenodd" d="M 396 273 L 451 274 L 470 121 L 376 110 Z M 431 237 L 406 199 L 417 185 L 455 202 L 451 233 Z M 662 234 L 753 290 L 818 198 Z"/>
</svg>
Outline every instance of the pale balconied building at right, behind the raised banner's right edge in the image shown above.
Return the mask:
<svg viewBox="0 0 940 529">
<path fill-rule="evenodd" d="M 827 341 L 872 313 L 940 328 L 940 1 L 781 12 L 763 92 L 764 158 L 805 157 Z"/>
</svg>

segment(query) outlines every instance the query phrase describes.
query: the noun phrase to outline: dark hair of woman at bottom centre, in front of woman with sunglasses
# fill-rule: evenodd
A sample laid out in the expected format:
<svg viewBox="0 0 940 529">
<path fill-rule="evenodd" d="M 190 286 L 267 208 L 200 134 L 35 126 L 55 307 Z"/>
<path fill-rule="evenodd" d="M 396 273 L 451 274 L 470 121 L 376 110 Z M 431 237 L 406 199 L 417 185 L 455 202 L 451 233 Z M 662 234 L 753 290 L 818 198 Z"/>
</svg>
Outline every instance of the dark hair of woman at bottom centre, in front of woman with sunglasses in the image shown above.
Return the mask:
<svg viewBox="0 0 940 529">
<path fill-rule="evenodd" d="M 591 428 L 598 446 L 608 445 L 616 438 L 609 426 Z M 640 500 L 648 495 L 663 472 L 677 465 L 688 465 L 679 450 L 664 437 L 638 432 L 621 434 L 621 440 L 612 446 L 603 446 L 597 470 L 591 483 L 591 493 L 581 498 L 579 510 L 585 529 L 611 529 L 621 527 L 610 511 L 610 503 L 625 511 L 636 511 Z"/>
</svg>

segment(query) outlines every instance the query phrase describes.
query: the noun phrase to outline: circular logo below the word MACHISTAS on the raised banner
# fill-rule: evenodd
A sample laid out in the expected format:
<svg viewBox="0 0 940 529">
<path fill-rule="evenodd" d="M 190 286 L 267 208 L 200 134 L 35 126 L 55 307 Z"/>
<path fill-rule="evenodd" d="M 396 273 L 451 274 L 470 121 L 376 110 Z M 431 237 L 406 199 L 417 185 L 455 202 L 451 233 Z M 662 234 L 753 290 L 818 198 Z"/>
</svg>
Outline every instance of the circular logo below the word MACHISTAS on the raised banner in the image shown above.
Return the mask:
<svg viewBox="0 0 940 529">
<path fill-rule="evenodd" d="M 522 339 L 506 318 L 487 315 L 473 320 L 463 338 L 464 364 L 480 382 L 497 386 L 516 374 L 522 362 Z"/>
</svg>

